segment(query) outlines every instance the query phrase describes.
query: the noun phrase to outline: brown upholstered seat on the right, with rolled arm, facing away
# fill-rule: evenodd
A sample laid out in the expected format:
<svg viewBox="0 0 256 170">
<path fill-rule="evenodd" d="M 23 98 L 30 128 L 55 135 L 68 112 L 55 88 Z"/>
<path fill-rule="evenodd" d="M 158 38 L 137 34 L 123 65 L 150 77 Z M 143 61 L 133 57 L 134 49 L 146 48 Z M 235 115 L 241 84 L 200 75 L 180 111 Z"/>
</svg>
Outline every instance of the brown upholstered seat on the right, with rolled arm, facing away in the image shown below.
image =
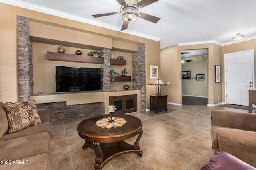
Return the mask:
<svg viewBox="0 0 256 170">
<path fill-rule="evenodd" d="M 212 147 L 256 167 L 256 113 L 212 110 Z"/>
</svg>

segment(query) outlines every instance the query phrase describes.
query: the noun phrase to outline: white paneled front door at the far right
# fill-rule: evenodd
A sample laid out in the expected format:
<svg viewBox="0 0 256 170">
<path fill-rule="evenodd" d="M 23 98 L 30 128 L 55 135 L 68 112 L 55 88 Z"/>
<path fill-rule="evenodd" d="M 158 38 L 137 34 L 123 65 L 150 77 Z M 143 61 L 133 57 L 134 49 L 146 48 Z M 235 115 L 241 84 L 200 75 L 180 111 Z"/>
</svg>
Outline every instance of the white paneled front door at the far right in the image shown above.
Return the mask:
<svg viewBox="0 0 256 170">
<path fill-rule="evenodd" d="M 225 54 L 226 103 L 249 105 L 248 89 L 254 88 L 254 50 Z"/>
</svg>

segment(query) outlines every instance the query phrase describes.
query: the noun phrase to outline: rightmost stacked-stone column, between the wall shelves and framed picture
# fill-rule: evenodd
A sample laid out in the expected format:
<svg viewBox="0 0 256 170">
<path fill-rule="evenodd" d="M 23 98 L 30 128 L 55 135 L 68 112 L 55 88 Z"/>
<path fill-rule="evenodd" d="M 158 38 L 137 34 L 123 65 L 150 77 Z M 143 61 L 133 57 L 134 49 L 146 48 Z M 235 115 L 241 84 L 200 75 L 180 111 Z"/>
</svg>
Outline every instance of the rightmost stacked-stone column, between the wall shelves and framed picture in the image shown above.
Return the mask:
<svg viewBox="0 0 256 170">
<path fill-rule="evenodd" d="M 141 109 L 146 110 L 146 57 L 145 44 L 138 45 L 138 51 L 132 54 L 132 88 L 141 90 Z"/>
</svg>

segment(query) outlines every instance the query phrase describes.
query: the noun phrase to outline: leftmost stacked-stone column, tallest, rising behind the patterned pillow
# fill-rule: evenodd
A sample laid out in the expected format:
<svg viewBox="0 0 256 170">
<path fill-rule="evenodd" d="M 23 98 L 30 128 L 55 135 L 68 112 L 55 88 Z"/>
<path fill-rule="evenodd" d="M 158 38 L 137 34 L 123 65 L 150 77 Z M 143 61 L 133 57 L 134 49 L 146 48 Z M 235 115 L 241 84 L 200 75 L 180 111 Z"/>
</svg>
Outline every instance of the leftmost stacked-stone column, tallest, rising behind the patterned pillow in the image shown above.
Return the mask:
<svg viewBox="0 0 256 170">
<path fill-rule="evenodd" d="M 18 101 L 29 100 L 33 95 L 32 40 L 29 37 L 29 20 L 17 16 L 17 67 Z"/>
</svg>

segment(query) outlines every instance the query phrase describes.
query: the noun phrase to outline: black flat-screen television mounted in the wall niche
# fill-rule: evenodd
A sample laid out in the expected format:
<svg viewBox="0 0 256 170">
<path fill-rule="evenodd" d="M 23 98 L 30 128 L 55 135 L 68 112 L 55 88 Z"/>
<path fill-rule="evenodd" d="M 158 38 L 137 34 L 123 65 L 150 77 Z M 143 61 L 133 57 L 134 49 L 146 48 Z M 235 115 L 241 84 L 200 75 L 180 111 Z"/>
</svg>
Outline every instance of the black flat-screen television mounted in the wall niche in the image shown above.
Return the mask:
<svg viewBox="0 0 256 170">
<path fill-rule="evenodd" d="M 56 92 L 101 90 L 101 68 L 55 66 Z"/>
</svg>

